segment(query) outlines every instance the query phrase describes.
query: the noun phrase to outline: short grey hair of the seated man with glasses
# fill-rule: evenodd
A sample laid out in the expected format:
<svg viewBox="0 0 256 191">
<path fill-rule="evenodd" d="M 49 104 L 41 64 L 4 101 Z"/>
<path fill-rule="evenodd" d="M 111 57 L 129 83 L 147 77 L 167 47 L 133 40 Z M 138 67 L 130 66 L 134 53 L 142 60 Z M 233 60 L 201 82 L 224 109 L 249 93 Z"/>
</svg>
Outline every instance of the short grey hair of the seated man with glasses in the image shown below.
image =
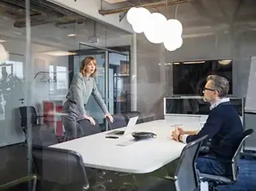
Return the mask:
<svg viewBox="0 0 256 191">
<path fill-rule="evenodd" d="M 225 77 L 220 77 L 217 75 L 210 75 L 207 77 L 207 81 L 212 81 L 212 89 L 217 90 L 219 97 L 227 97 L 228 91 L 230 90 L 230 85 Z"/>
</svg>

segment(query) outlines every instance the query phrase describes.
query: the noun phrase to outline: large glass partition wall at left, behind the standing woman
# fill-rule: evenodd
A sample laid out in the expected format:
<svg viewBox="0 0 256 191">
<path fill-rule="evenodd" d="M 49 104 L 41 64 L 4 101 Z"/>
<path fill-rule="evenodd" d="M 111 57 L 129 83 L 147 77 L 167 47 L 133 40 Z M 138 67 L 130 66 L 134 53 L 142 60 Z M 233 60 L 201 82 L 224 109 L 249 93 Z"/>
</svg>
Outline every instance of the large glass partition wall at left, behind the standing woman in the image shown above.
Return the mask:
<svg viewBox="0 0 256 191">
<path fill-rule="evenodd" d="M 27 7 L 26 2 L 28 2 Z M 67 101 L 66 96 L 73 74 L 80 71 L 80 62 L 85 56 L 94 56 L 97 60 L 95 78 L 97 87 L 105 102 L 110 99 L 111 106 L 108 109 L 111 114 L 115 113 L 114 90 L 118 89 L 121 92 L 122 88 L 125 88 L 124 84 L 128 87 L 129 82 L 128 80 L 121 82 L 116 87 L 114 85 L 116 67 L 107 68 L 111 76 L 105 77 L 105 51 L 80 53 L 80 43 L 103 48 L 121 48 L 123 52 L 124 47 L 127 47 L 125 51 L 130 49 L 131 34 L 64 9 L 50 1 L 6 0 L 0 2 L 0 9 L 0 186 L 2 186 L 6 182 L 28 176 L 35 170 L 32 169 L 31 163 L 30 149 L 33 146 L 48 147 L 69 141 L 60 113 L 63 104 Z M 126 36 L 125 43 L 118 43 L 123 36 Z M 112 57 L 115 56 L 108 53 L 109 60 L 112 60 Z M 112 62 L 113 65 L 119 65 L 123 61 L 127 67 L 130 66 L 126 58 L 118 59 Z M 106 79 L 111 85 L 107 84 Z M 110 88 L 108 99 L 105 97 L 106 85 L 108 90 Z M 86 110 L 91 117 L 103 124 L 104 114 L 96 107 L 95 101 L 89 101 Z M 80 136 L 85 135 L 80 134 Z M 41 186 L 39 189 L 49 190 L 47 186 L 52 186 L 45 184 L 47 181 L 53 181 L 49 175 L 60 176 L 59 169 L 54 167 L 49 168 L 43 163 L 44 172 L 46 174 L 49 170 L 51 172 L 47 174 L 48 176 L 45 175 L 48 177 L 47 180 L 39 181 L 38 185 Z M 29 189 L 27 184 L 24 189 L 19 186 L 19 190 L 32 190 L 32 186 Z M 60 185 L 53 185 L 54 188 L 56 186 Z"/>
</svg>

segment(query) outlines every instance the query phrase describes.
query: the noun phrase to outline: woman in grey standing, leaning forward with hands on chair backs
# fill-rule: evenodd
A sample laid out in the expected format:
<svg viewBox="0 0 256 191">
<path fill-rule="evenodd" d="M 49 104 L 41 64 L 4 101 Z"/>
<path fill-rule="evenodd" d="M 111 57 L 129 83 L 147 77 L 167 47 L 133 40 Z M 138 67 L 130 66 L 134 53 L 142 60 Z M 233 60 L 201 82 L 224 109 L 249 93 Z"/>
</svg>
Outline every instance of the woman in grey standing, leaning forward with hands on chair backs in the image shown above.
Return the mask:
<svg viewBox="0 0 256 191">
<path fill-rule="evenodd" d="M 109 118 L 111 122 L 114 121 L 100 92 L 97 90 L 97 84 L 94 80 L 96 70 L 97 61 L 94 57 L 88 56 L 81 62 L 80 73 L 73 76 L 67 93 L 67 101 L 63 104 L 63 111 L 67 113 L 67 116 L 62 118 L 69 138 L 77 138 L 78 120 L 86 118 L 90 121 L 90 124 L 95 125 L 94 118 L 90 117 L 85 111 L 85 106 L 91 94 L 104 112 L 105 118 Z"/>
</svg>

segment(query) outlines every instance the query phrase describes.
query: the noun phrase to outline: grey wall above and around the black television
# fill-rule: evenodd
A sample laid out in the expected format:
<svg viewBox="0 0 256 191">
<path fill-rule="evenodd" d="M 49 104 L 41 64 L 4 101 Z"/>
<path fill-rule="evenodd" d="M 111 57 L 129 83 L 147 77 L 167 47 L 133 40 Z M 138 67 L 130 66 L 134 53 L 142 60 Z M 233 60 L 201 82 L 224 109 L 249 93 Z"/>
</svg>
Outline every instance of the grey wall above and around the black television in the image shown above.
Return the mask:
<svg viewBox="0 0 256 191">
<path fill-rule="evenodd" d="M 166 52 L 166 63 L 232 59 L 233 94 L 245 97 L 251 56 L 255 55 L 256 50 L 255 2 L 243 1 L 241 5 L 238 2 L 207 0 L 179 5 L 177 19 L 183 23 L 183 46 L 176 51 Z M 200 4 L 204 5 L 204 10 L 199 9 Z M 217 6 L 221 10 L 216 9 Z M 166 12 L 166 15 L 172 15 L 172 12 Z M 168 70 L 172 73 L 172 65 L 168 66 Z M 166 76 L 166 94 L 172 95 L 172 74 Z M 245 128 L 254 128 L 254 123 L 255 119 L 245 114 Z M 256 135 L 253 135 L 248 141 L 249 145 L 255 140 Z"/>
</svg>

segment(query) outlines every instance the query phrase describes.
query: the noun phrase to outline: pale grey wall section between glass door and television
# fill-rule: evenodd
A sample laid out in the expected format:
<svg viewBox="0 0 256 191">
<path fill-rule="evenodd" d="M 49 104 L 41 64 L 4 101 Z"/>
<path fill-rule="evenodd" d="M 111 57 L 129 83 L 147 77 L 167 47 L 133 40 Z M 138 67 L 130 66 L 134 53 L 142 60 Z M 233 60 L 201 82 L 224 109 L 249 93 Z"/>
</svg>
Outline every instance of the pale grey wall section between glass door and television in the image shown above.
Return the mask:
<svg viewBox="0 0 256 191">
<path fill-rule="evenodd" d="M 137 109 L 163 118 L 165 96 L 165 49 L 137 35 Z"/>
</svg>

